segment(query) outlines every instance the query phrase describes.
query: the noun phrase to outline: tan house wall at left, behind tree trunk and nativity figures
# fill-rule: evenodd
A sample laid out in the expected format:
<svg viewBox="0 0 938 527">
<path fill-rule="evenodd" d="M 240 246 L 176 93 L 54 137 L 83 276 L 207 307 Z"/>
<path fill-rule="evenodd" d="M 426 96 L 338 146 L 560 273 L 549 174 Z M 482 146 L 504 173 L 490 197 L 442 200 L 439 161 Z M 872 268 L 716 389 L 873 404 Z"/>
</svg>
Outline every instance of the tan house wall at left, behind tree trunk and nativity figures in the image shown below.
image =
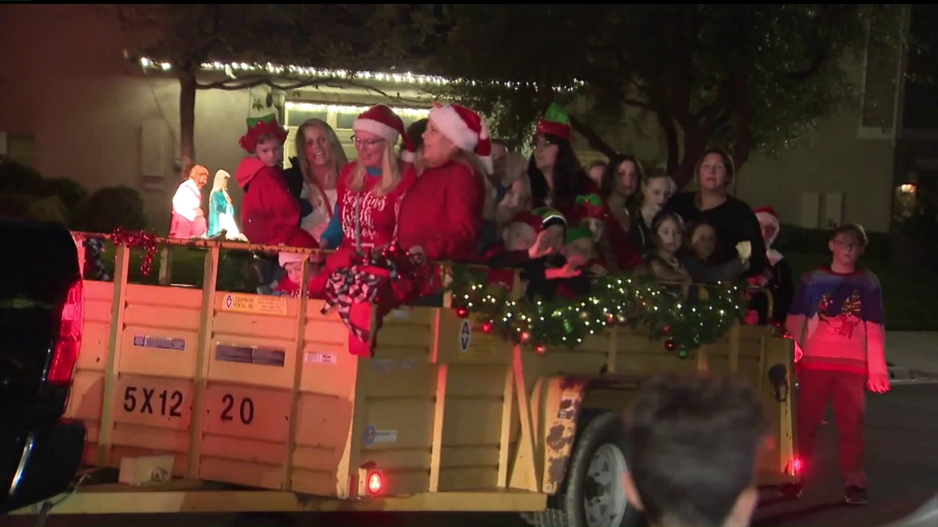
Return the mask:
<svg viewBox="0 0 938 527">
<path fill-rule="evenodd" d="M 2 24 L 0 130 L 32 135 L 43 176 L 69 177 L 89 192 L 141 190 L 151 228 L 168 232 L 180 181 L 179 83 L 129 64 L 122 50 L 131 36 L 113 8 L 8 6 Z M 211 173 L 234 173 L 249 103 L 248 90 L 198 92 L 196 162 Z"/>
</svg>

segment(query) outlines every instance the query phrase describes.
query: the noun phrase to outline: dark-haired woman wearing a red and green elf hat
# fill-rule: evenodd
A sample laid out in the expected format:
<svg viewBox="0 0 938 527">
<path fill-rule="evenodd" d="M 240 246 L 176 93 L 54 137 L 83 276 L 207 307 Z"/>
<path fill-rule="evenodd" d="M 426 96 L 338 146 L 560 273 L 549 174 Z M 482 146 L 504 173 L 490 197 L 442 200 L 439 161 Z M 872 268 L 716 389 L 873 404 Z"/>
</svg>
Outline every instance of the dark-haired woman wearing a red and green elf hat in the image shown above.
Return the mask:
<svg viewBox="0 0 938 527">
<path fill-rule="evenodd" d="M 573 152 L 569 117 L 556 103 L 537 123 L 534 154 L 527 173 L 534 206 L 551 206 L 564 215 L 573 212 L 577 196 L 597 190 Z"/>
</svg>

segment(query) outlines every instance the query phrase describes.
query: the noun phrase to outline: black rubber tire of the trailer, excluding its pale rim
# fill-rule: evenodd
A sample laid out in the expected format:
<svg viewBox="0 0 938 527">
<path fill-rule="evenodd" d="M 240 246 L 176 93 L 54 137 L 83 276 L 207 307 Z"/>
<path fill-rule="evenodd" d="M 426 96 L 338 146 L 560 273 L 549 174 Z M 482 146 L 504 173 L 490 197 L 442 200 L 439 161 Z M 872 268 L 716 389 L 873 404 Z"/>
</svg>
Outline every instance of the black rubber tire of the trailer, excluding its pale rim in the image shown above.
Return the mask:
<svg viewBox="0 0 938 527">
<path fill-rule="evenodd" d="M 590 462 L 598 449 L 605 445 L 611 445 L 613 452 L 621 455 L 621 462 L 625 462 L 625 430 L 619 415 L 610 412 L 598 414 L 581 425 L 582 428 L 573 444 L 567 477 L 560 491 L 548 500 L 547 510 L 535 514 L 537 527 L 589 527 L 584 498 L 587 495 L 595 495 L 601 488 L 595 479 L 587 474 Z M 622 499 L 625 500 L 621 477 L 622 474 L 614 474 L 616 483 L 604 490 L 621 493 Z M 614 525 L 602 527 L 634 527 L 639 519 L 638 510 L 631 504 L 626 504 L 624 512 Z"/>
</svg>

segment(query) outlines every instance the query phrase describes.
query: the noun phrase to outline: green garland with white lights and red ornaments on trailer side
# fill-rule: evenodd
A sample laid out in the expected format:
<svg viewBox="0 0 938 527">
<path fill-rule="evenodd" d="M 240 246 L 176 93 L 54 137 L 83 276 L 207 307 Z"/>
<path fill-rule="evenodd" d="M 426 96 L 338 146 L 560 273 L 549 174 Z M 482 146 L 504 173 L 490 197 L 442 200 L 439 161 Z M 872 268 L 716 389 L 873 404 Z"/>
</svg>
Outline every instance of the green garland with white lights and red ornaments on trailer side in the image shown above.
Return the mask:
<svg viewBox="0 0 938 527">
<path fill-rule="evenodd" d="M 511 300 L 505 288 L 486 285 L 486 271 L 454 265 L 449 289 L 459 316 L 471 316 L 485 333 L 533 346 L 574 348 L 615 325 L 647 328 L 651 339 L 667 338 L 665 348 L 686 358 L 691 350 L 717 341 L 746 312 L 746 290 L 734 284 L 694 285 L 688 298 L 680 288 L 654 276 L 606 276 L 592 282 L 582 299 Z M 694 288 L 697 288 L 697 294 Z M 699 291 L 707 299 L 699 300 Z"/>
</svg>

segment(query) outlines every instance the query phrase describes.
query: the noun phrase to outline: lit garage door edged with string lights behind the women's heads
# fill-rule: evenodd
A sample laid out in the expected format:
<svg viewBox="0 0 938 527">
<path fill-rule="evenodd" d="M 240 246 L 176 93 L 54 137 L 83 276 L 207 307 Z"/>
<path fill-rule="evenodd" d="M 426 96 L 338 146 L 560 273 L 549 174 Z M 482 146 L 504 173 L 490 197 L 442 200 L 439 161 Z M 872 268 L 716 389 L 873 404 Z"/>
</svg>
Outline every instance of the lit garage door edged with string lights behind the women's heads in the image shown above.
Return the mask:
<svg viewBox="0 0 938 527">
<path fill-rule="evenodd" d="M 287 101 L 284 108 L 284 122 L 287 124 L 287 130 L 290 132 L 287 143 L 283 146 L 283 166 L 290 166 L 290 158 L 296 156 L 296 131 L 307 119 L 322 119 L 332 129 L 336 131 L 339 137 L 339 143 L 345 156 L 349 159 L 358 157 L 355 146 L 352 144 L 352 125 L 358 118 L 358 115 L 366 110 L 368 106 L 329 104 L 324 102 L 310 101 Z M 401 116 L 404 122 L 404 128 L 411 125 L 418 119 L 422 119 L 430 114 L 429 108 L 416 107 L 398 107 L 391 105 L 391 108 Z"/>
</svg>

